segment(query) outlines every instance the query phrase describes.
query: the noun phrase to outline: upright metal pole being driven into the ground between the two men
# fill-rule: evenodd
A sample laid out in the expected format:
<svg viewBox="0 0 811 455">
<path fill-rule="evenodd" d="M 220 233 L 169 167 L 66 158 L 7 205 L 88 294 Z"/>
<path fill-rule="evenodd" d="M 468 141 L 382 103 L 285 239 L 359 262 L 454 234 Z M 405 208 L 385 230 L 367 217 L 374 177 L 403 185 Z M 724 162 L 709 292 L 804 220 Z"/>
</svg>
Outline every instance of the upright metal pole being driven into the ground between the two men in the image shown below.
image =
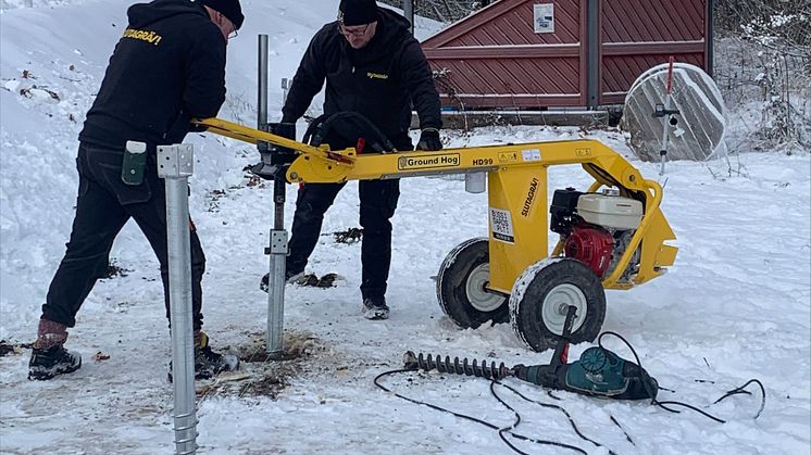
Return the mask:
<svg viewBox="0 0 811 455">
<path fill-rule="evenodd" d="M 267 124 L 267 35 L 259 36 L 259 129 L 270 130 Z M 260 150 L 267 151 L 266 144 Z M 273 163 L 273 155 L 264 153 Z M 264 161 L 264 157 L 263 157 Z M 267 332 L 265 352 L 267 358 L 284 355 L 285 325 L 285 268 L 287 265 L 287 231 L 285 230 L 285 174 L 277 167 L 273 180 L 274 222 L 271 229 L 271 255 L 267 289 Z"/>
</svg>

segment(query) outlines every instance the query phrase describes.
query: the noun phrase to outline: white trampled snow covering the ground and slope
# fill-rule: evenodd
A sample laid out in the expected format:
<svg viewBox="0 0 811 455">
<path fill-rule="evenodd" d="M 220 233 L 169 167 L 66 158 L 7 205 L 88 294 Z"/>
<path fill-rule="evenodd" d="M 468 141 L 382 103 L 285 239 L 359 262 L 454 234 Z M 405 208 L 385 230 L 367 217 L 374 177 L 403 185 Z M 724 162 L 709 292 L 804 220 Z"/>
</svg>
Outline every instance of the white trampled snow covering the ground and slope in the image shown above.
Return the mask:
<svg viewBox="0 0 811 455">
<path fill-rule="evenodd" d="M 3 4 L 9 9 L 0 14 L 0 78 L 5 88 L 0 89 L 0 339 L 18 344 L 35 338 L 39 306 L 64 252 L 76 193 L 76 135 L 122 33 L 128 3 Z M 277 81 L 292 76 L 312 34 L 335 17 L 337 1 L 242 4 L 247 21 L 228 48 L 228 101 L 221 116 L 253 125 L 252 37 L 270 35 L 270 112 L 278 119 Z M 417 35 L 425 37 L 435 28 L 436 24 L 421 22 Z M 24 78 L 24 72 L 29 77 Z M 59 99 L 21 94 L 34 86 Z M 494 127 L 444 136 L 451 147 L 463 147 L 571 139 L 584 132 Z M 631 155 L 627 138 L 617 131 L 592 131 L 587 137 Z M 262 252 L 272 223 L 272 189 L 249 185 L 242 169 L 258 161 L 250 147 L 210 134 L 191 135 L 189 141 L 198 161 L 190 210 L 208 257 L 205 330 L 216 349 L 255 352 L 265 329 L 267 298 L 259 290 L 259 278 L 267 270 Z M 658 164 L 631 160 L 642 175 L 657 177 Z M 665 178 L 662 210 L 676 232 L 676 263 L 649 283 L 608 292 L 603 330 L 627 338 L 649 372 L 675 391 L 660 392 L 661 400 L 697 405 L 728 422 L 715 424 L 689 410 L 670 414 L 646 403 L 565 393 L 557 393 L 561 401 L 553 401 L 536 387 L 508 380 L 527 396 L 565 407 L 579 430 L 603 447 L 577 438 L 560 412 L 500 389 L 499 395 L 521 413 L 516 431 L 590 454 L 608 448 L 620 454 L 809 453 L 808 151 L 745 153 L 728 163 L 669 163 Z M 578 166 L 550 169 L 550 195 L 556 188 L 582 189 L 589 182 Z M 467 239 L 487 236 L 487 195 L 464 192 L 462 181 L 438 178 L 406 179 L 401 189 L 387 295 L 391 318 L 362 317 L 360 245 L 336 243 L 329 235 L 358 226 L 357 184 L 349 184 L 327 213 L 310 264 L 320 275 L 336 271 L 345 278 L 332 289 L 287 288 L 286 345 L 303 355 L 279 364 L 246 363 L 241 380 L 202 384 L 200 453 L 458 454 L 473 447 L 508 452 L 496 431 L 402 401 L 373 384 L 378 374 L 401 367 L 407 350 L 508 365 L 546 363 L 551 355 L 526 349 L 509 325 L 459 330 L 436 302 L 431 277 L 445 255 Z M 288 187 L 288 227 L 295 191 Z M 165 379 L 171 343 L 158 264 L 133 224 L 116 240 L 112 256 L 126 276 L 101 280 L 71 330 L 68 347 L 83 354 L 82 369 L 32 382 L 26 380 L 27 350 L 0 357 L 0 452 L 174 451 L 172 387 Z M 591 345 L 573 346 L 572 357 Z M 609 346 L 631 358 L 613 340 Z M 95 361 L 96 353 L 110 358 Z M 766 406 L 757 420 L 756 388 L 749 389 L 752 395 L 711 405 L 750 378 L 760 379 L 766 390 Z M 387 377 L 384 383 L 406 396 L 497 426 L 509 426 L 513 419 L 490 396 L 486 380 L 404 374 Z M 533 454 L 571 452 L 513 442 Z"/>
</svg>

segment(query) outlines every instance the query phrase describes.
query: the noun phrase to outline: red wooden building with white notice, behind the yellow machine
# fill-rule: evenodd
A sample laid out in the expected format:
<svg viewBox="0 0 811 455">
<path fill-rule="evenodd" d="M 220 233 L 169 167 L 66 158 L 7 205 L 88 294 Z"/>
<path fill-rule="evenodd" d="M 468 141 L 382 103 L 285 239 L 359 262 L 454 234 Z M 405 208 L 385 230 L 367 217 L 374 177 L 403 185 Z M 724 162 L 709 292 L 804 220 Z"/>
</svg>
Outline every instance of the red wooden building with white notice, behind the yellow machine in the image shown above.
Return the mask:
<svg viewBox="0 0 811 455">
<path fill-rule="evenodd" d="M 712 74 L 713 0 L 500 0 L 423 42 L 445 105 L 622 104 L 673 55 Z"/>
</svg>

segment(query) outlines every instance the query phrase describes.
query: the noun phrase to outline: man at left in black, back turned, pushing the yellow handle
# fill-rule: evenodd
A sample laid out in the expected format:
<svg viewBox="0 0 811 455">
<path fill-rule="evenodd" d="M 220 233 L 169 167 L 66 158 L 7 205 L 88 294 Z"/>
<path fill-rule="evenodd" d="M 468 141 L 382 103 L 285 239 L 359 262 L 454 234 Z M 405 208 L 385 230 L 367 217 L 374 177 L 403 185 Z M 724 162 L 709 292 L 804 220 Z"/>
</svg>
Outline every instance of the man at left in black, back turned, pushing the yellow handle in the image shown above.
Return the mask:
<svg viewBox="0 0 811 455">
<path fill-rule="evenodd" d="M 157 146 L 183 141 L 191 117 L 213 117 L 225 101 L 225 47 L 242 25 L 238 0 L 154 0 L 127 11 L 129 25 L 115 46 L 98 97 L 79 134 L 79 188 L 65 256 L 48 289 L 29 379 L 51 379 L 82 366 L 64 349 L 67 327 L 107 269 L 113 240 L 134 218 L 161 265 L 166 315 L 169 269 L 165 188 Z M 127 141 L 146 144 L 142 179 L 123 181 Z M 211 350 L 202 327 L 200 281 L 205 257 L 194 224 L 191 276 L 195 370 L 210 377 L 234 365 Z"/>
</svg>

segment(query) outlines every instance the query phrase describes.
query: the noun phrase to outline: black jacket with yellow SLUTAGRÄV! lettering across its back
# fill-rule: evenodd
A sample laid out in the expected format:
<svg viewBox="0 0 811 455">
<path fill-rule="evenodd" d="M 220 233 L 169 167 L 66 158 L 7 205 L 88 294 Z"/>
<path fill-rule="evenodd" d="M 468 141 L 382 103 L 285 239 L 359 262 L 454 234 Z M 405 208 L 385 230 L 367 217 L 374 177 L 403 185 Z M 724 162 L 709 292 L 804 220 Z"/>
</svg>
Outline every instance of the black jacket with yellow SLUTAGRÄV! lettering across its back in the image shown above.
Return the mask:
<svg viewBox="0 0 811 455">
<path fill-rule="evenodd" d="M 115 46 L 82 141 L 123 149 L 127 140 L 183 141 L 191 117 L 213 117 L 225 101 L 225 46 L 200 2 L 134 4 Z"/>
</svg>

